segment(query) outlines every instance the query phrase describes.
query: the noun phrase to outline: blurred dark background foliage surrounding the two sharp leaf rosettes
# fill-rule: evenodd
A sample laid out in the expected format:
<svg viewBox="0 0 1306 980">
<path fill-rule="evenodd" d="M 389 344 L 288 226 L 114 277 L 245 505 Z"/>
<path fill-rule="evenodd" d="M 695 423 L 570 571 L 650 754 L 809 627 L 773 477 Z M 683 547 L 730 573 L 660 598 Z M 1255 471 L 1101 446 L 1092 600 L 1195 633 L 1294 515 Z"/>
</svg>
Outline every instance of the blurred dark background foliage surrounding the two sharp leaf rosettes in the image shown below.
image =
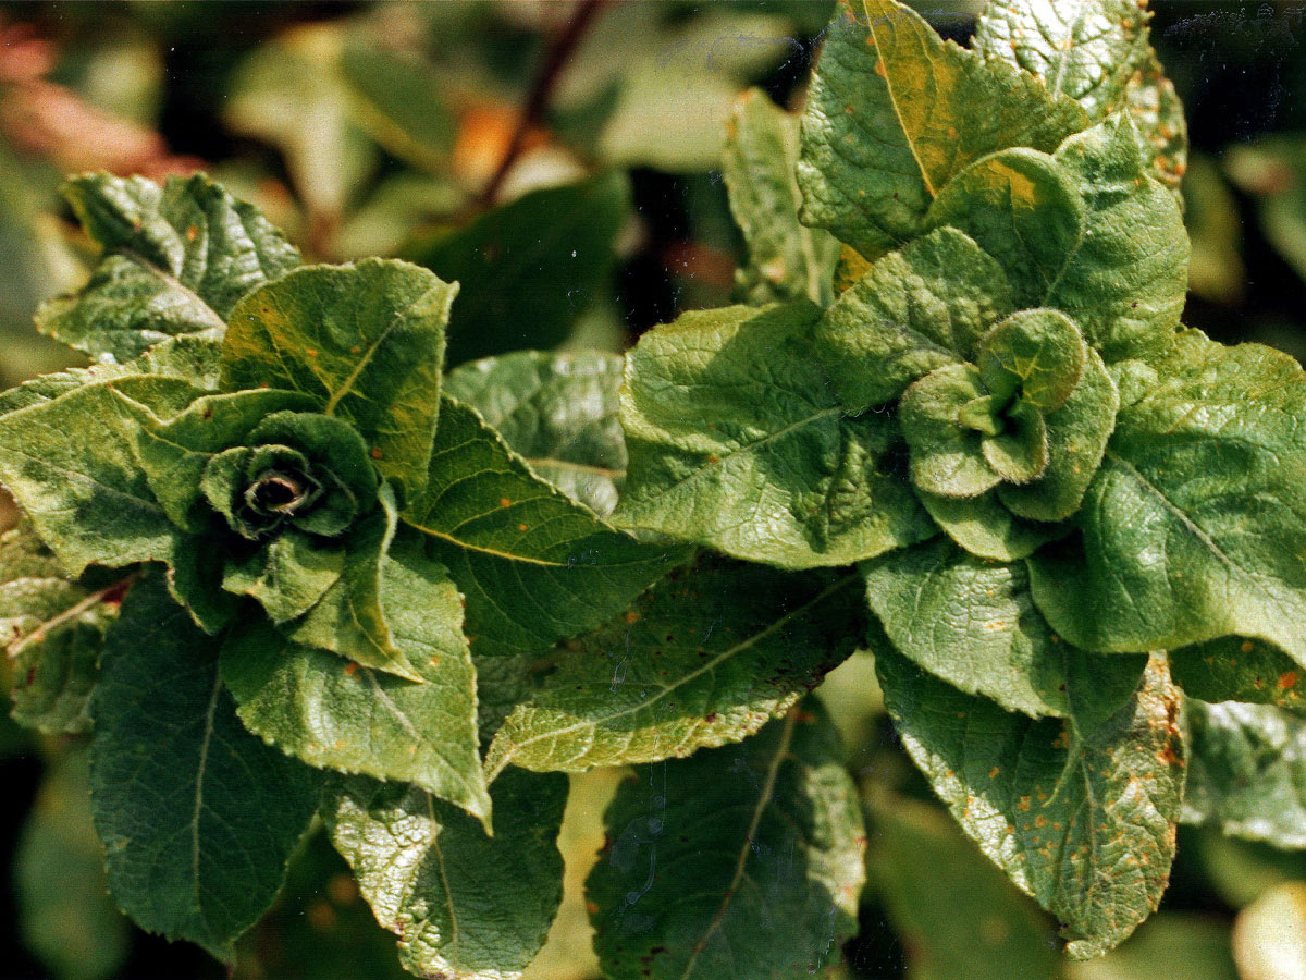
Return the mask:
<svg viewBox="0 0 1306 980">
<path fill-rule="evenodd" d="M 977 3 L 916 4 L 964 41 Z M 624 349 L 730 301 L 742 243 L 717 170 L 737 95 L 797 107 L 829 0 L 0 3 L 0 382 L 68 363 L 37 306 L 89 242 L 65 172 L 197 169 L 310 260 L 393 255 L 462 284 L 451 362 Z M 1153 4 L 1188 110 L 1186 319 L 1306 355 L 1306 4 Z M 451 366 L 452 366 L 451 363 Z M 7 614 L 0 589 L 0 629 Z M 10 669 L 8 657 L 0 659 Z M 1054 924 L 965 840 L 896 745 L 867 656 L 823 685 L 871 817 L 849 980 L 1301 980 L 1306 855 L 1183 828 L 1161 912 L 1070 966 Z M 1303 746 L 1306 751 L 1306 746 Z M 0 975 L 219 977 L 110 904 L 76 740 L 0 719 Z M 581 882 L 620 771 L 573 777 L 567 894 L 530 980 L 597 976 Z M 238 980 L 400 977 L 323 835 L 242 942 Z M 739 980 L 747 980 L 741 977 Z"/>
</svg>

